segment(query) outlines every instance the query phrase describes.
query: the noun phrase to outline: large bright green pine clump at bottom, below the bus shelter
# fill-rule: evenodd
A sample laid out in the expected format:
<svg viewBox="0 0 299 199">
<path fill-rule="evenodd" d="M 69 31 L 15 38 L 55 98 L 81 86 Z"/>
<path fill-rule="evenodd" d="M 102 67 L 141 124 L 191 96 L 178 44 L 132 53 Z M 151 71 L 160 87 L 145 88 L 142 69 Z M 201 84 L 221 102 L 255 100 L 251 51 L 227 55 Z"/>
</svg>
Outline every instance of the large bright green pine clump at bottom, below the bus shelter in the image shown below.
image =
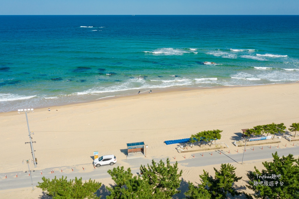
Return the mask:
<svg viewBox="0 0 299 199">
<path fill-rule="evenodd" d="M 107 199 L 170 199 L 173 195 L 180 193 L 180 177 L 182 171 L 178 172 L 178 163 L 170 165 L 167 158 L 166 165 L 160 160 L 157 164 L 152 160 L 152 165 L 140 166 L 142 177 L 134 176 L 131 169 L 126 171 L 122 167 L 109 170 L 115 186 L 109 188 L 110 195 Z"/>
</svg>

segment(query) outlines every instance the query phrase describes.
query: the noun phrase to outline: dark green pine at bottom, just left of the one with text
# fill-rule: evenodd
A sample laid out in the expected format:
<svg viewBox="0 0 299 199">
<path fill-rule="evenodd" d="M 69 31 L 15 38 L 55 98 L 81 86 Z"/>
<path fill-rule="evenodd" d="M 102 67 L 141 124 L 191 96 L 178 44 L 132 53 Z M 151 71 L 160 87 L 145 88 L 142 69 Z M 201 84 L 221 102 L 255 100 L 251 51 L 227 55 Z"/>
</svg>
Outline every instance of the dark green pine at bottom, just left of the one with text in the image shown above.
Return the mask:
<svg viewBox="0 0 299 199">
<path fill-rule="evenodd" d="M 234 182 L 239 181 L 242 177 L 237 177 L 235 167 L 231 164 L 221 164 L 221 169 L 215 170 L 215 178 L 209 176 L 209 173 L 204 170 L 204 174 L 199 175 L 202 179 L 202 184 L 197 187 L 189 182 L 189 190 L 185 192 L 188 199 L 225 199 L 228 194 L 232 197 L 240 193 L 234 189 Z"/>
</svg>

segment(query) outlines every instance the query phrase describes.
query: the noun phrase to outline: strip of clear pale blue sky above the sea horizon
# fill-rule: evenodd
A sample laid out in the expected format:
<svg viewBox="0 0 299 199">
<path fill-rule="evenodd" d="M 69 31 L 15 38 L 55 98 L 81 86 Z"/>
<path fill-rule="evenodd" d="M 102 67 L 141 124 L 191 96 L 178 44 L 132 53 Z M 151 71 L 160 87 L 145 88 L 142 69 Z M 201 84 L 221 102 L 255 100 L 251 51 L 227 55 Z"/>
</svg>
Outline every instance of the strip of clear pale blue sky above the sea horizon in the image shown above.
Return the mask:
<svg viewBox="0 0 299 199">
<path fill-rule="evenodd" d="M 299 15 L 299 0 L 0 0 L 0 15 Z"/>
</svg>

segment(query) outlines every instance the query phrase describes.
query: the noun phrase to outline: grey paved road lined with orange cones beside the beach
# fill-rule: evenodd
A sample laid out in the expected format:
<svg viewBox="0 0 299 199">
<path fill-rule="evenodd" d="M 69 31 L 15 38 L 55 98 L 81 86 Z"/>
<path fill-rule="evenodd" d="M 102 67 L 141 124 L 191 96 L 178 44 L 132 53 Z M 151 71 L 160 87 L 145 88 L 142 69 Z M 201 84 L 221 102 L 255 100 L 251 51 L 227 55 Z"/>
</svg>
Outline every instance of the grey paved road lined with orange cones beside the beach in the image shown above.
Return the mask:
<svg viewBox="0 0 299 199">
<path fill-rule="evenodd" d="M 287 145 L 288 146 L 288 145 Z M 246 147 L 245 156 L 244 156 L 244 162 L 249 161 L 258 161 L 261 159 L 273 159 L 272 153 L 275 153 L 275 151 L 278 152 L 278 155 L 282 157 L 283 155 L 286 156 L 288 154 L 293 155 L 299 155 L 299 147 L 298 146 L 291 146 L 288 147 L 280 146 L 277 148 L 275 146 L 271 146 L 271 149 L 269 146 L 263 146 L 263 150 L 261 149 L 261 146 L 253 146 Z M 202 153 L 195 153 L 195 157 L 193 157 L 193 153 L 178 153 L 176 155 L 176 160 L 171 157 L 171 162 L 174 163 L 175 161 L 178 161 L 179 165 L 185 166 L 185 167 L 196 167 L 196 166 L 210 166 L 210 165 L 216 165 L 221 163 L 236 163 L 241 164 L 242 163 L 242 156 L 243 156 L 243 149 L 239 147 L 238 153 L 237 151 L 230 151 L 228 153 L 228 149 L 223 149 L 220 151 L 209 151 L 204 152 L 203 156 Z M 212 153 L 213 152 L 213 153 Z M 186 155 L 186 159 L 183 157 Z M 156 162 L 158 162 L 160 159 L 162 159 L 164 162 L 167 157 L 152 157 Z M 144 158 L 138 158 L 138 159 L 131 159 L 131 160 L 123 160 L 126 163 L 129 164 L 129 166 L 132 169 L 132 173 L 138 173 L 140 172 L 139 167 L 141 164 L 146 165 L 151 163 L 151 159 L 144 159 Z M 107 173 L 109 169 L 112 169 L 115 166 L 118 166 L 119 164 L 116 163 L 114 166 L 102 166 L 99 168 L 95 168 L 89 163 L 84 165 L 76 165 L 74 166 L 74 171 L 71 170 L 71 167 L 63 167 L 63 172 L 61 172 L 61 168 L 54 168 L 54 174 L 50 172 L 53 168 L 43 169 L 43 173 L 40 173 L 40 170 L 35 170 L 34 172 L 31 172 L 33 185 L 36 186 L 37 182 L 41 182 L 42 176 L 45 176 L 46 178 L 54 178 L 54 176 L 57 176 L 58 178 L 63 176 L 67 176 L 68 179 L 73 179 L 75 177 L 82 177 L 83 180 L 91 179 L 101 179 L 101 178 L 108 178 L 110 175 Z M 32 167 L 33 164 L 30 164 Z M 84 170 L 83 170 L 84 166 Z M 24 165 L 24 167 L 27 168 L 27 165 Z M 30 168 L 33 169 L 33 168 Z M 16 177 L 16 174 L 18 174 L 18 177 Z M 13 172 L 13 173 L 6 173 L 7 178 L 5 178 L 5 174 L 0 174 L 0 190 L 4 189 L 14 189 L 14 188 L 22 188 L 22 187 L 30 187 L 31 181 L 30 177 L 28 175 L 28 172 L 19 171 L 19 172 Z"/>
</svg>

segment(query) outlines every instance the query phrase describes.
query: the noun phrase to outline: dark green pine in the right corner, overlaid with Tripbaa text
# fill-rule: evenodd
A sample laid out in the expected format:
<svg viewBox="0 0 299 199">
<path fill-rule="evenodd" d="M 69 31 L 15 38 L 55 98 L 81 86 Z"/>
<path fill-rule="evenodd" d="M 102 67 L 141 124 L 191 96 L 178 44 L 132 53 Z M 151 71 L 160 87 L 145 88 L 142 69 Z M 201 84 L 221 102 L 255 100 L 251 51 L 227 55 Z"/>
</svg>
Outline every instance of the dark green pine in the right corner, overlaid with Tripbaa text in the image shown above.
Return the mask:
<svg viewBox="0 0 299 199">
<path fill-rule="evenodd" d="M 277 152 L 272 154 L 273 162 L 263 162 L 263 165 L 266 169 L 263 169 L 261 172 L 254 167 L 255 171 L 248 173 L 249 178 L 249 189 L 254 190 L 255 198 L 275 198 L 275 199 L 298 199 L 299 198 L 299 158 L 298 160 L 293 158 L 292 154 L 288 156 L 279 157 Z M 259 179 L 257 174 L 262 176 L 277 176 L 276 179 Z M 258 184 L 254 185 L 254 182 L 263 181 L 263 185 Z M 268 186 L 265 184 L 268 182 Z M 273 181 L 274 186 L 269 186 L 270 182 Z M 278 184 L 275 185 L 276 181 Z M 282 182 L 282 184 L 281 184 Z"/>
</svg>

